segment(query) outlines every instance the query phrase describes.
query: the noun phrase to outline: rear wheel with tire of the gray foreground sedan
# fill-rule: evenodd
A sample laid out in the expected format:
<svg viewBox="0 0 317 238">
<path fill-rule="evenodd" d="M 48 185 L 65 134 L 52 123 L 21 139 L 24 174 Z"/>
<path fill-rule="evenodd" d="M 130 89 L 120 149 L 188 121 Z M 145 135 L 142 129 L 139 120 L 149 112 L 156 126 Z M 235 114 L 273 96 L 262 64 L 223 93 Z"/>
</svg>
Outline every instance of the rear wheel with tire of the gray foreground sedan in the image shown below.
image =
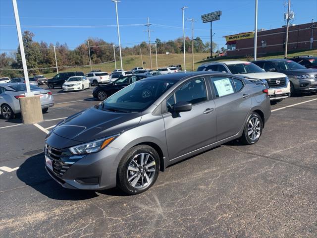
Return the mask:
<svg viewBox="0 0 317 238">
<path fill-rule="evenodd" d="M 259 141 L 262 135 L 263 121 L 259 114 L 253 112 L 244 126 L 241 140 L 243 144 L 252 145 Z"/>
</svg>

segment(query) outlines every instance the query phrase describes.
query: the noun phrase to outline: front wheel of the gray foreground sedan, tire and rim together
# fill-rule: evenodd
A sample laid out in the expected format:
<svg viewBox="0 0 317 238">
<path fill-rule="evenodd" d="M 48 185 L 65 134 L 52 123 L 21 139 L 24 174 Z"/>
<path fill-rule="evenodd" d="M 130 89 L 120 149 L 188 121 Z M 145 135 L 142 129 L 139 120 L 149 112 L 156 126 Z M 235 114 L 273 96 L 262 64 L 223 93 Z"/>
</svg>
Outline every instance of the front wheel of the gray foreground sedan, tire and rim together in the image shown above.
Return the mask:
<svg viewBox="0 0 317 238">
<path fill-rule="evenodd" d="M 128 194 L 148 190 L 159 176 L 159 154 L 148 145 L 138 145 L 122 157 L 117 171 L 118 186 Z"/>
</svg>

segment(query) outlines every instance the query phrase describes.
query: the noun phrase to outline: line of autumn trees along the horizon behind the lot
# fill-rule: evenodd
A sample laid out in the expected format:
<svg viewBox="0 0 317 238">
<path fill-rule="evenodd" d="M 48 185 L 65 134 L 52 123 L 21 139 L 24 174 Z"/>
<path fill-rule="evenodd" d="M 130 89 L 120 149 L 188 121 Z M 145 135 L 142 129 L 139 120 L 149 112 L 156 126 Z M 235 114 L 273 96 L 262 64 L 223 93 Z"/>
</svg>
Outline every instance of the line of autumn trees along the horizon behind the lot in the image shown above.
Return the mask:
<svg viewBox="0 0 317 238">
<path fill-rule="evenodd" d="M 30 31 L 23 32 L 23 45 L 26 57 L 26 63 L 30 75 L 39 73 L 51 73 L 55 72 L 55 56 L 54 45 L 48 44 L 44 41 L 36 42 L 33 40 L 34 33 Z M 88 41 L 90 45 L 90 55 L 93 64 L 102 62 L 109 62 L 114 60 L 113 56 L 113 44 L 104 41 L 99 38 L 89 38 L 75 49 L 71 50 L 67 44 L 55 44 L 56 60 L 60 70 L 63 70 L 63 66 L 79 66 L 89 64 L 89 51 Z M 181 54 L 183 53 L 183 38 L 179 37 L 175 40 L 161 41 L 156 39 L 158 54 Z M 155 52 L 154 44 L 151 45 L 152 53 Z M 212 49 L 214 50 L 217 45 L 212 42 Z M 121 47 L 122 56 L 140 55 L 140 49 L 142 54 L 149 54 L 149 45 L 147 42 L 142 42 L 139 45 L 133 47 Z M 192 53 L 192 41 L 189 37 L 185 38 L 185 51 Z M 210 42 L 203 43 L 202 39 L 197 37 L 194 41 L 194 53 L 210 52 Z M 115 54 L 119 59 L 118 47 L 115 47 Z M 16 52 L 2 53 L 0 54 L 0 76 L 3 77 L 20 77 L 23 76 L 22 60 L 20 48 L 17 48 Z"/>
</svg>

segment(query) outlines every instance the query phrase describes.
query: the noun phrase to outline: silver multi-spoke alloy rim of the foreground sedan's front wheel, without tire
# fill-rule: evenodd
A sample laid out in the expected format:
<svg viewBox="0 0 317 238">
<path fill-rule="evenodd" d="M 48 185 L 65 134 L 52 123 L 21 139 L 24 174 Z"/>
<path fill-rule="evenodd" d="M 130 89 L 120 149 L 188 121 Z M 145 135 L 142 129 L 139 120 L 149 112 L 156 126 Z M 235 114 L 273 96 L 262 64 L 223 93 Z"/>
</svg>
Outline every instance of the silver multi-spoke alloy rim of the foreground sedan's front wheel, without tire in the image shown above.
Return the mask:
<svg viewBox="0 0 317 238">
<path fill-rule="evenodd" d="M 147 187 L 152 183 L 155 171 L 156 163 L 151 154 L 137 154 L 128 166 L 128 181 L 135 188 Z"/>
</svg>

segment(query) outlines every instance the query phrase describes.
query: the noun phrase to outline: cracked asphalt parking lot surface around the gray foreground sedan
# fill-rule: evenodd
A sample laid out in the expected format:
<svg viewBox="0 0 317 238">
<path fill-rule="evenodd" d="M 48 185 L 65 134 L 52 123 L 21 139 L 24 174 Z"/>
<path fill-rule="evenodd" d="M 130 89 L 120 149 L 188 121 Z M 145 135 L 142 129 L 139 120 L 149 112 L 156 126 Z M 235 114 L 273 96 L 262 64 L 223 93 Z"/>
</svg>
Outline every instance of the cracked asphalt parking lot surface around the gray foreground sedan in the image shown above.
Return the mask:
<svg viewBox="0 0 317 238">
<path fill-rule="evenodd" d="M 68 190 L 44 169 L 46 133 L 99 103 L 92 90 L 52 90 L 38 124 L 0 119 L 1 237 L 317 237 L 317 94 L 272 105 L 256 145 L 221 145 L 127 196 Z"/>
</svg>

